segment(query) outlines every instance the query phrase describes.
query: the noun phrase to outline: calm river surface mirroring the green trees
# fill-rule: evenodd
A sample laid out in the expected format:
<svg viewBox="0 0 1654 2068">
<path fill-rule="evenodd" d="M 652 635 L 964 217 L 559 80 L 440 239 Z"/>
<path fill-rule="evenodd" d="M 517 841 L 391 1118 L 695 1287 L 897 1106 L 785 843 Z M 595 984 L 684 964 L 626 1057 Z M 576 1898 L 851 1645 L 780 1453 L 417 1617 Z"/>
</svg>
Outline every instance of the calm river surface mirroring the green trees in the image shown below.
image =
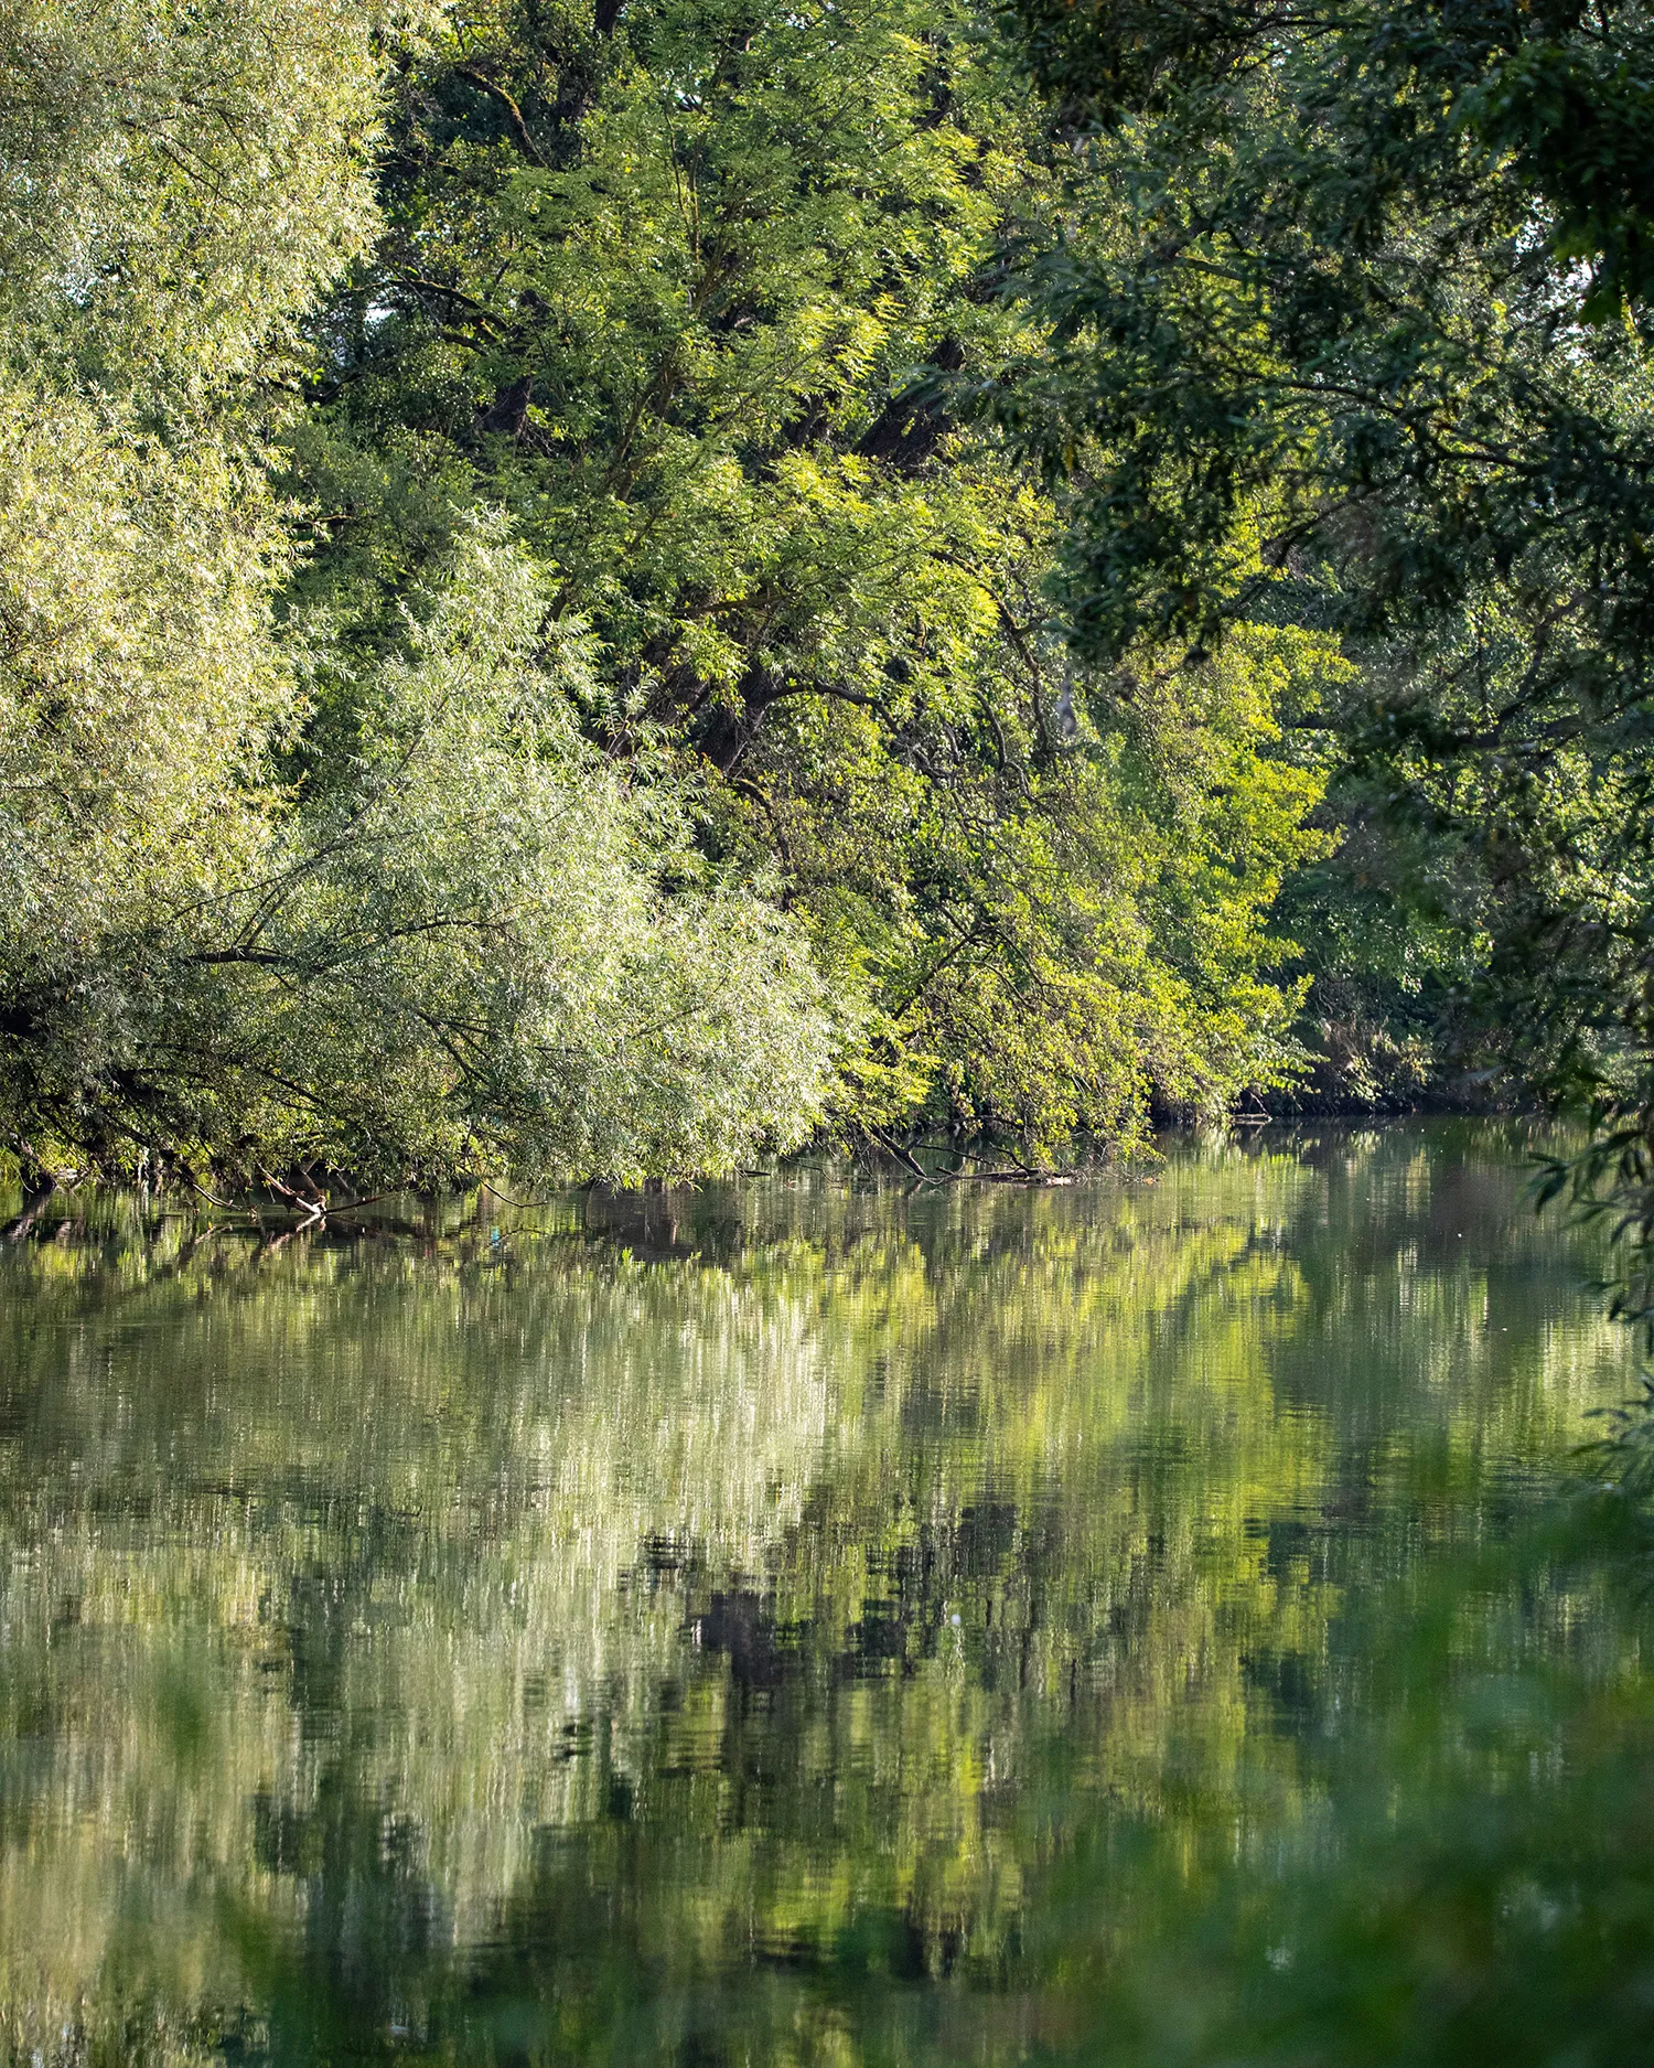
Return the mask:
<svg viewBox="0 0 1654 2068">
<path fill-rule="evenodd" d="M 1627 2058 L 1629 1365 L 1524 1144 L 37 1226 L 0 2047 Z"/>
</svg>

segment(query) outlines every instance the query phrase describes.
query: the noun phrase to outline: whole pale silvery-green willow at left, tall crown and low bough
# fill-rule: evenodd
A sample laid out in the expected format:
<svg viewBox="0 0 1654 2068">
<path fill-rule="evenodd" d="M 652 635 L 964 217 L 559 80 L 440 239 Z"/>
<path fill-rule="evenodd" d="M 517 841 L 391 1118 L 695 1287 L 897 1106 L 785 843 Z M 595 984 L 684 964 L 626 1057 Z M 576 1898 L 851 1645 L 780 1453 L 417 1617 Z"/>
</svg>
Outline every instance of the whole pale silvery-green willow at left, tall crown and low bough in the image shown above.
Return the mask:
<svg viewBox="0 0 1654 2068">
<path fill-rule="evenodd" d="M 579 742 L 581 641 L 540 637 L 496 529 L 399 596 L 364 732 L 296 753 L 327 641 L 277 622 L 271 440 L 420 33 L 314 0 L 0 23 L 0 1119 L 37 1170 L 637 1175 L 815 1113 L 788 922 Z"/>
</svg>

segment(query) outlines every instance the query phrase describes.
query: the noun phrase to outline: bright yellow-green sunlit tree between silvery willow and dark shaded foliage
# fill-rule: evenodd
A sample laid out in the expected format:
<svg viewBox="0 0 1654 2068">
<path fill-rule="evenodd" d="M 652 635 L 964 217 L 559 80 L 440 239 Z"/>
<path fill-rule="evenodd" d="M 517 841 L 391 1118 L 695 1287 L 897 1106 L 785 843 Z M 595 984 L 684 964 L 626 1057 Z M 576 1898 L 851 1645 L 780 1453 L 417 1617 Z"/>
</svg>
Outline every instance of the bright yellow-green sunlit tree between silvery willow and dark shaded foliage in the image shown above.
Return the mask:
<svg viewBox="0 0 1654 2068">
<path fill-rule="evenodd" d="M 589 734 L 664 751 L 808 933 L 856 1137 L 1131 1144 L 1292 1067 L 1267 910 L 1317 778 L 1278 726 L 1336 656 L 1259 635 L 1077 718 L 1048 503 L 922 395 L 1021 335 L 982 269 L 1044 153 L 959 6 L 467 10 L 395 83 L 289 447 L 294 612 L 351 651 L 509 519 L 593 641 Z"/>
</svg>

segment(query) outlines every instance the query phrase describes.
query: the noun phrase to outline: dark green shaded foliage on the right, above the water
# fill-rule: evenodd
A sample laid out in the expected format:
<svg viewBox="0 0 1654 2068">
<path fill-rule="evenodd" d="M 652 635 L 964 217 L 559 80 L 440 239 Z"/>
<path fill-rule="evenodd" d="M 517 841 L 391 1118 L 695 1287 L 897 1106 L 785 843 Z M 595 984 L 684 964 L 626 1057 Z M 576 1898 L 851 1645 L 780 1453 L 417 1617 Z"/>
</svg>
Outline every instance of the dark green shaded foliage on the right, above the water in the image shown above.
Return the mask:
<svg viewBox="0 0 1654 2068">
<path fill-rule="evenodd" d="M 1644 10 L 1028 0 L 1017 33 L 1075 172 L 1007 252 L 1052 345 L 978 403 L 1061 486 L 1079 645 L 1336 635 L 1346 838 L 1288 893 L 1317 1032 L 1379 1084 L 1588 1092 L 1635 1162 Z"/>
</svg>

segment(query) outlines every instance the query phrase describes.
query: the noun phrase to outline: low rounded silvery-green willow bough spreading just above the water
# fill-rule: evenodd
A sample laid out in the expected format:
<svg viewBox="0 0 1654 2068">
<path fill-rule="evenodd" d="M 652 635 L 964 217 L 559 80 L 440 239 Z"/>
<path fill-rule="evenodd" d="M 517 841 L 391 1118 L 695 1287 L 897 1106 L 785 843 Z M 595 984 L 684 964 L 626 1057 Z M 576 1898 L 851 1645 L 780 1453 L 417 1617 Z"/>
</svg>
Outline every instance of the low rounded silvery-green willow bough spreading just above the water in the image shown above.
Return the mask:
<svg viewBox="0 0 1654 2068">
<path fill-rule="evenodd" d="M 521 556 L 467 540 L 364 682 L 347 771 L 273 802 L 263 866 L 52 972 L 14 1139 L 302 1199 L 794 1146 L 833 1040 L 806 945 L 697 858 L 682 794 L 581 742 L 581 641 L 542 622 Z"/>
</svg>

